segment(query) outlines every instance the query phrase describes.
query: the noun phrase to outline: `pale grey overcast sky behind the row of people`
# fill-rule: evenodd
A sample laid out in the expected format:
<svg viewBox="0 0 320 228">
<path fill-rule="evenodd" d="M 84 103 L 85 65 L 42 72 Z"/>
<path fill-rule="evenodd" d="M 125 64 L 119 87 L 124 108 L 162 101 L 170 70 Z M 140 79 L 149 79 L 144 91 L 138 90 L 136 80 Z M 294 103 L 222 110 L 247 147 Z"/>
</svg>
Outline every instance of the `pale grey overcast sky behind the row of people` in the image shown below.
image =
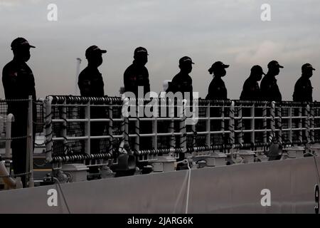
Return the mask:
<svg viewBox="0 0 320 228">
<path fill-rule="evenodd" d="M 48 4 L 58 6 L 58 21 L 48 21 Z M 260 19 L 270 4 L 272 21 Z M 105 93 L 117 95 L 134 48 L 149 51 L 151 90 L 178 73 L 178 59 L 190 56 L 193 90 L 206 96 L 215 61 L 230 64 L 224 81 L 228 97 L 238 99 L 251 66 L 279 61 L 278 84 L 284 100 L 292 100 L 303 63 L 317 71 L 311 82 L 320 100 L 319 0 L 0 0 L 0 66 L 11 61 L 11 41 L 22 36 L 36 46 L 28 65 L 39 98 L 75 94 L 76 58 L 91 45 L 106 48 L 100 66 Z M 0 98 L 4 89 L 0 88 Z"/>
</svg>

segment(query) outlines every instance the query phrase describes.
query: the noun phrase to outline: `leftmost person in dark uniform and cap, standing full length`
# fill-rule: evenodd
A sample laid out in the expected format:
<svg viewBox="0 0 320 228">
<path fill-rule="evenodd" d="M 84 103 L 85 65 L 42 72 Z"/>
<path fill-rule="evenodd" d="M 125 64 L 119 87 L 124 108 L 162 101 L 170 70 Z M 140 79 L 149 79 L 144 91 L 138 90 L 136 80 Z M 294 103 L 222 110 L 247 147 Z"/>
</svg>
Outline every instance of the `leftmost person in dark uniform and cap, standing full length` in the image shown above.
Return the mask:
<svg viewBox="0 0 320 228">
<path fill-rule="evenodd" d="M 6 99 L 28 99 L 32 95 L 36 100 L 36 88 L 33 73 L 26 62 L 30 59 L 31 46 L 25 38 L 16 38 L 11 43 L 14 59 L 4 66 L 2 71 L 2 83 Z M 12 123 L 12 137 L 27 135 L 28 102 L 8 102 L 8 113 L 14 115 Z M 33 123 L 36 123 L 36 105 L 33 103 Z M 36 125 L 33 124 L 33 146 L 36 133 Z M 26 139 L 12 141 L 12 162 L 14 173 L 26 172 Z M 21 177 L 23 186 L 26 186 L 26 176 Z"/>
</svg>

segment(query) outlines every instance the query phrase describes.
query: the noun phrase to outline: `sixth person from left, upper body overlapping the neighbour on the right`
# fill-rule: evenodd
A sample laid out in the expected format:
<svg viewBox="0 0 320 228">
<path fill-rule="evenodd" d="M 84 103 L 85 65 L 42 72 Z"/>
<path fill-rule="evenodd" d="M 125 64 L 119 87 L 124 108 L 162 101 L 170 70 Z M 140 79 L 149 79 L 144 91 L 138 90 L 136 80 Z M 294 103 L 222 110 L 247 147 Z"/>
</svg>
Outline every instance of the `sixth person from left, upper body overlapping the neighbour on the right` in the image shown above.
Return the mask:
<svg viewBox="0 0 320 228">
<path fill-rule="evenodd" d="M 263 73 L 261 66 L 252 66 L 249 78 L 242 87 L 240 100 L 261 100 L 261 90 L 258 81 L 261 80 Z"/>
</svg>

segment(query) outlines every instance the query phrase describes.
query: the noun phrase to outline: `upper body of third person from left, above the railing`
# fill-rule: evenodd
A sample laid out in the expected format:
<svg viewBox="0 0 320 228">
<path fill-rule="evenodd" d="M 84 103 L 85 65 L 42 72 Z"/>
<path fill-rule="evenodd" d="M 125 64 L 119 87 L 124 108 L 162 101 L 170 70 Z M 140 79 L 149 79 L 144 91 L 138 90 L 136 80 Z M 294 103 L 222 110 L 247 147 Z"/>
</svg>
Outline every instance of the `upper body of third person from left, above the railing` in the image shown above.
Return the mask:
<svg viewBox="0 0 320 228">
<path fill-rule="evenodd" d="M 138 87 L 144 87 L 144 94 L 150 92 L 149 72 L 145 67 L 148 62 L 148 52 L 146 48 L 136 48 L 134 50 L 134 61 L 124 71 L 124 91 L 132 92 L 138 98 Z"/>
</svg>

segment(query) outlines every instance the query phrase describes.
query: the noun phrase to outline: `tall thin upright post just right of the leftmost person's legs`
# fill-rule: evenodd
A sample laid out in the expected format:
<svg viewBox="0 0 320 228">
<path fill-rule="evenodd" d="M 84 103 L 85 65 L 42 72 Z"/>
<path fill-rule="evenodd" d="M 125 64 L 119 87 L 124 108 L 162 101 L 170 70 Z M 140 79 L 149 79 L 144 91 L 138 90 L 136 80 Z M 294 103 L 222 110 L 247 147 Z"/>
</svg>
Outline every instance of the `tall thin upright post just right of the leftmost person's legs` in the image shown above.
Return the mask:
<svg viewBox="0 0 320 228">
<path fill-rule="evenodd" d="M 28 98 L 28 125 L 27 125 L 27 172 L 29 175 L 28 187 L 34 187 L 33 180 L 33 100 L 32 96 Z"/>
</svg>

